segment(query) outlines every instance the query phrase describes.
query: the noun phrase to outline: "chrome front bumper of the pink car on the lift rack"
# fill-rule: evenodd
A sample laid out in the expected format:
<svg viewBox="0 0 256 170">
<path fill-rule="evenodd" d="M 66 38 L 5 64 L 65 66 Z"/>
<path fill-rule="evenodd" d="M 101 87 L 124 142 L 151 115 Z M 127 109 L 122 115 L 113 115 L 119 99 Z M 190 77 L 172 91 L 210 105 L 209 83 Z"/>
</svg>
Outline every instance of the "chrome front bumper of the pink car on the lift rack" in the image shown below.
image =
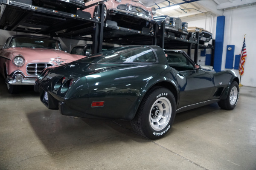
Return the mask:
<svg viewBox="0 0 256 170">
<path fill-rule="evenodd" d="M 108 9 L 108 14 L 123 14 L 123 15 L 129 15 L 129 16 L 134 16 L 134 17 L 138 17 L 141 19 L 144 19 L 148 22 L 155 22 L 151 17 L 146 16 L 145 14 L 140 14 L 138 12 L 134 12 L 134 11 L 126 11 L 126 10 L 122 10 L 122 9 L 117 9 L 117 8 L 111 8 Z"/>
</svg>

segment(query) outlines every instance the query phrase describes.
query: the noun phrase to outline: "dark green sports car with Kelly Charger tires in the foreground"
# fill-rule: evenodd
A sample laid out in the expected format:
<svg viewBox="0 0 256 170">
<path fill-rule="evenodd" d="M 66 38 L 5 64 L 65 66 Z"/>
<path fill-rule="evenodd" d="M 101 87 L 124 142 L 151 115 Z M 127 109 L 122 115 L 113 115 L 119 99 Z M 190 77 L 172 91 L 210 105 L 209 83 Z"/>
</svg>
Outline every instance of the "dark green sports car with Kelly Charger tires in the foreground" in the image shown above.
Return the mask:
<svg viewBox="0 0 256 170">
<path fill-rule="evenodd" d="M 112 48 L 44 69 L 36 79 L 41 102 L 63 115 L 130 120 L 149 139 L 164 136 L 175 114 L 209 103 L 227 110 L 239 98 L 233 71 L 209 71 L 184 51 L 158 46 Z"/>
</svg>

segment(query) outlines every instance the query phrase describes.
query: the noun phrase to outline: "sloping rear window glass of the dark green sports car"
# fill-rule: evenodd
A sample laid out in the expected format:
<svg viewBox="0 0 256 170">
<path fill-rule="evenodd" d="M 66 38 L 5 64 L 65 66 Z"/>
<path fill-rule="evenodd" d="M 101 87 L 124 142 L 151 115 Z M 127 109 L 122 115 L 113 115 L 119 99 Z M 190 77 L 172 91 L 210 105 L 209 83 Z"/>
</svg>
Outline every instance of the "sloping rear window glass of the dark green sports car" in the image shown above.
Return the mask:
<svg viewBox="0 0 256 170">
<path fill-rule="evenodd" d="M 81 61 L 90 63 L 128 63 L 128 62 L 156 62 L 154 52 L 149 47 L 124 46 L 83 58 Z"/>
</svg>

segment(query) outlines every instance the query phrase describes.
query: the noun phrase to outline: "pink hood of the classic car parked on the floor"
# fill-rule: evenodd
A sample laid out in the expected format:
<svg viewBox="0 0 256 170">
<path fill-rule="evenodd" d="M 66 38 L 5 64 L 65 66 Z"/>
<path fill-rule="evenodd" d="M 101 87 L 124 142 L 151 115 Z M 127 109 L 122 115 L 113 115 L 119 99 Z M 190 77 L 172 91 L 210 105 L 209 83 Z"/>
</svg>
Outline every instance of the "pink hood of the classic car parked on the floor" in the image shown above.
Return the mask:
<svg viewBox="0 0 256 170">
<path fill-rule="evenodd" d="M 79 55 L 73 55 L 61 50 L 47 48 L 9 48 L 8 52 L 12 53 L 13 57 L 15 57 L 16 55 L 22 55 L 26 60 L 54 59 L 60 57 L 61 59 L 74 61 L 84 57 L 78 57 Z"/>
</svg>

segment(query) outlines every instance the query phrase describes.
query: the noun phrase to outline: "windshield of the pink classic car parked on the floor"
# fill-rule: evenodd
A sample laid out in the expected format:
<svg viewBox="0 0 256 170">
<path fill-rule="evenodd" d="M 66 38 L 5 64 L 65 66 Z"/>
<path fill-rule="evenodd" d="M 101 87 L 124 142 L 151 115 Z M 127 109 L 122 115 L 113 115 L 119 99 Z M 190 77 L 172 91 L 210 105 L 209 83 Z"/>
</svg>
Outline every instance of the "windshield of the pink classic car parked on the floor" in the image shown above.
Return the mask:
<svg viewBox="0 0 256 170">
<path fill-rule="evenodd" d="M 9 48 L 11 47 L 50 48 L 61 50 L 61 45 L 58 41 L 41 37 L 14 37 L 9 44 Z"/>
</svg>

